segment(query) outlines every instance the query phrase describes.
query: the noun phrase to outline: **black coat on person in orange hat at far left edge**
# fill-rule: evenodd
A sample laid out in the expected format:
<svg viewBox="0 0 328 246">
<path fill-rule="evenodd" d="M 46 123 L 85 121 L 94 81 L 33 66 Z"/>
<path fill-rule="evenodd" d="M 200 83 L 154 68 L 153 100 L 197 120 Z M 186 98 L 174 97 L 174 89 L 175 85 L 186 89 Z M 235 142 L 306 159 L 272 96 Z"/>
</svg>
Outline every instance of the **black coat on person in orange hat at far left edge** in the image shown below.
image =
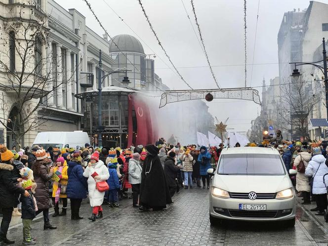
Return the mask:
<svg viewBox="0 0 328 246">
<path fill-rule="evenodd" d="M 10 164 L 0 163 L 0 208 L 14 207 L 19 204 L 15 195 L 23 195 L 25 190 L 16 186 L 12 180 L 12 170 Z"/>
</svg>

